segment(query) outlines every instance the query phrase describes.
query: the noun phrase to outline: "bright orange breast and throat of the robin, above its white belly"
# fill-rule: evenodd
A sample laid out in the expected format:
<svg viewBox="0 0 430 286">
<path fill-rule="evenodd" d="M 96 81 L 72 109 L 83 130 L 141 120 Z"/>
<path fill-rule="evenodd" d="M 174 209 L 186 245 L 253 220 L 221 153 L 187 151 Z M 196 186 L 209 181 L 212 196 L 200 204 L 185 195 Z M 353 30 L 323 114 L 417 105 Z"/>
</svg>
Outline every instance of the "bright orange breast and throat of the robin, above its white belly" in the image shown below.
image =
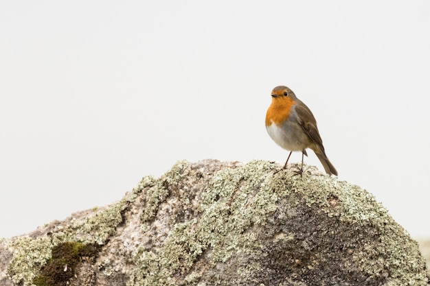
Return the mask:
<svg viewBox="0 0 430 286">
<path fill-rule="evenodd" d="M 295 104 L 291 97 L 273 97 L 272 104 L 267 109 L 266 126 L 275 123 L 280 126 L 291 115 L 291 108 Z"/>
</svg>

